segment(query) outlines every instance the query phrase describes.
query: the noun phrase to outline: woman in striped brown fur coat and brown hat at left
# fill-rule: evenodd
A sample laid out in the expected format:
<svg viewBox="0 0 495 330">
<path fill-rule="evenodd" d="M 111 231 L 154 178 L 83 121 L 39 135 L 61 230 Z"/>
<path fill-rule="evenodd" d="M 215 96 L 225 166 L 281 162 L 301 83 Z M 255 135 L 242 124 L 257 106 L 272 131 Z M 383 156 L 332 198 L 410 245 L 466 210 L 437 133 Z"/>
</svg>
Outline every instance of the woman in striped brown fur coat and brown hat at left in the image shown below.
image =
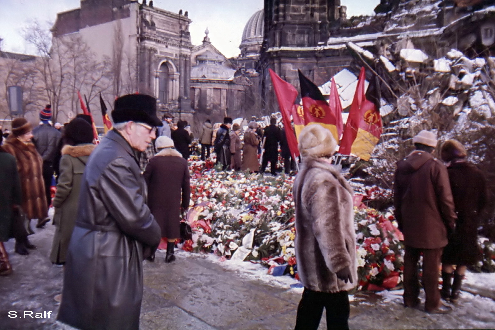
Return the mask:
<svg viewBox="0 0 495 330">
<path fill-rule="evenodd" d="M 12 121 L 12 133 L 3 145 L 5 151 L 15 157 L 17 171 L 21 180 L 22 210 L 28 219 L 38 219 L 38 224 L 46 223 L 48 217 L 45 182 L 43 181 L 43 159 L 31 142 L 33 129 L 24 118 L 15 118 Z M 34 248 L 28 240 L 16 240 L 15 252 L 26 255 L 26 248 Z"/>
</svg>

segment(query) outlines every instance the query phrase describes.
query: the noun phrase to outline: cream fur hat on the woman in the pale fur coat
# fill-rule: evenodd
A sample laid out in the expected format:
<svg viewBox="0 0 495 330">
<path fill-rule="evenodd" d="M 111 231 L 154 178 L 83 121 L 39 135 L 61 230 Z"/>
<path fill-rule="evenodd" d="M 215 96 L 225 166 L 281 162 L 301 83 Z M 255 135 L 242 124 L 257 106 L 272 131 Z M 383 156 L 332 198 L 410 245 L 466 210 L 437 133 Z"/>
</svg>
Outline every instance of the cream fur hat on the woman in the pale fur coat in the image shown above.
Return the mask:
<svg viewBox="0 0 495 330">
<path fill-rule="evenodd" d="M 299 134 L 299 152 L 302 157 L 320 158 L 335 153 L 335 141 L 332 133 L 318 124 L 304 127 Z"/>
</svg>

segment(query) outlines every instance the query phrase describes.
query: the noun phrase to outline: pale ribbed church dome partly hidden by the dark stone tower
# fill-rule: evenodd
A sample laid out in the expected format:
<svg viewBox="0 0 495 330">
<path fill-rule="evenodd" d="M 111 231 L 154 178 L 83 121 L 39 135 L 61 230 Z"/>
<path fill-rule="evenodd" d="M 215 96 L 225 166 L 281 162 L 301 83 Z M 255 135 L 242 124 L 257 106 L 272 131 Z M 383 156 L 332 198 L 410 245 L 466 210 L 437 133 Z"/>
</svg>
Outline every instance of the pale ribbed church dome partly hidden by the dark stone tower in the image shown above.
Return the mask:
<svg viewBox="0 0 495 330">
<path fill-rule="evenodd" d="M 264 14 L 263 9 L 256 11 L 247 21 L 243 31 L 243 39 L 239 48 L 241 56 L 259 55 L 263 43 Z"/>
</svg>

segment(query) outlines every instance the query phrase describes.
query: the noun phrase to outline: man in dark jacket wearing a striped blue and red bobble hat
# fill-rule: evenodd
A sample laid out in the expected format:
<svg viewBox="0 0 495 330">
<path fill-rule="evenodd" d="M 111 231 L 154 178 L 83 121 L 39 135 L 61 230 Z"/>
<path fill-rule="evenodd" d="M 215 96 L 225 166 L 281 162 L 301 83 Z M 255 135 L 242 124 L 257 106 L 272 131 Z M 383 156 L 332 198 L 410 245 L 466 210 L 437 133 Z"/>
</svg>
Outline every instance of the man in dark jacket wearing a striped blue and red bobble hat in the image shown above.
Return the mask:
<svg viewBox="0 0 495 330">
<path fill-rule="evenodd" d="M 47 195 L 47 205 L 51 204 L 51 178 L 53 177 L 55 158 L 57 156 L 58 144 L 62 135 L 56 128 L 51 126 L 51 105 L 47 104 L 40 111 L 41 125 L 33 130 L 33 143 L 43 158 L 43 180 L 45 181 L 45 193 Z M 37 228 L 45 226 L 50 219 L 38 219 Z"/>
</svg>

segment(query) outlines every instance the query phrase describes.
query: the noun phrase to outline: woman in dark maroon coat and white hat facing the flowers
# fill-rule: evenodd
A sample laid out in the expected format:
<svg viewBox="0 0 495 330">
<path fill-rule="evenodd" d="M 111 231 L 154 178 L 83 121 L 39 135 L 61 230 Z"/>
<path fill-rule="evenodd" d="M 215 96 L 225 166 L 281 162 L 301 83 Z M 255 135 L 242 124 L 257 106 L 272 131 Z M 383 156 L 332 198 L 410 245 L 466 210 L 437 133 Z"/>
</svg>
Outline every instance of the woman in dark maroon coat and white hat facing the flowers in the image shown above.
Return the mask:
<svg viewBox="0 0 495 330">
<path fill-rule="evenodd" d="M 165 262 L 175 260 L 175 239 L 180 237 L 181 211 L 186 211 L 191 198 L 187 161 L 174 149 L 172 139 L 161 136 L 155 141 L 158 153 L 151 158 L 144 177 L 148 185 L 148 206 L 167 238 Z"/>
</svg>

